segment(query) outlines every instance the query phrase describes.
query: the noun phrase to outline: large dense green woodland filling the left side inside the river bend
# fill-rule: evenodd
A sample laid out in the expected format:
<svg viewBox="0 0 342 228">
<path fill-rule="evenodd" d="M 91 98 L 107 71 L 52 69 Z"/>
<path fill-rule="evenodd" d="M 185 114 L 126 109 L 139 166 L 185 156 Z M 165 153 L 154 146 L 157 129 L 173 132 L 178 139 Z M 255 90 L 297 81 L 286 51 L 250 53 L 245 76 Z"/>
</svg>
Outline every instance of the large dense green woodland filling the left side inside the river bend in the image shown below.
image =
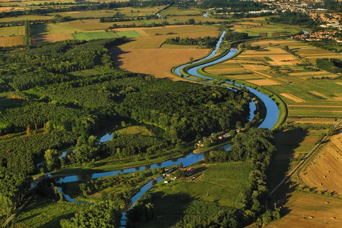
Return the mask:
<svg viewBox="0 0 342 228">
<path fill-rule="evenodd" d="M 247 122 L 246 93 L 113 69 L 108 48 L 121 42 L 125 38 L 1 50 L 1 92 L 14 101 L 0 108 L 0 135 L 12 134 L 0 139 L 2 214 L 10 214 L 25 194 L 31 180 L 26 175 L 106 157 L 158 156 L 210 132 L 234 128 L 236 122 Z M 113 135 L 113 140 L 99 145 L 92 134 L 108 120 L 123 126 L 124 122 L 153 124 L 163 134 Z M 58 151 L 70 146 L 75 146 L 74 153 L 60 157 Z M 10 180 L 17 182 L 16 188 L 7 187 Z M 61 198 L 53 183 L 38 189 L 41 196 Z M 92 224 L 107 224 L 106 213 L 118 212 L 117 206 L 103 209 L 103 216 Z M 63 221 L 62 227 L 88 221 L 93 209 Z"/>
</svg>

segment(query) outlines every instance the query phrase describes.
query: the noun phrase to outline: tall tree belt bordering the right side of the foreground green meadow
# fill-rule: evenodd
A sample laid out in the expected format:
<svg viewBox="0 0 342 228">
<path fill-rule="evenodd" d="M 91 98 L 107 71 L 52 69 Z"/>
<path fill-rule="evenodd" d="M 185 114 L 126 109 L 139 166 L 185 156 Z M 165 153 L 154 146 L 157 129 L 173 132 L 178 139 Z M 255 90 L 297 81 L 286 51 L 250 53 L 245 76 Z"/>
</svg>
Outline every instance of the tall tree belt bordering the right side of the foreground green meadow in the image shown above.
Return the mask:
<svg viewBox="0 0 342 228">
<path fill-rule="evenodd" d="M 271 143 L 272 139 L 273 135 L 269 130 L 251 128 L 248 132 L 239 133 L 232 139 L 233 145 L 229 153 L 223 150 L 213 151 L 205 157 L 205 162 L 208 163 L 253 162 L 246 188 L 239 194 L 237 199 L 237 204 L 243 210 L 243 225 L 248 225 L 258 218 L 267 223 L 280 217 L 279 211 L 265 211 L 265 202 L 268 196 L 266 174 L 272 154 L 276 151 Z"/>
</svg>

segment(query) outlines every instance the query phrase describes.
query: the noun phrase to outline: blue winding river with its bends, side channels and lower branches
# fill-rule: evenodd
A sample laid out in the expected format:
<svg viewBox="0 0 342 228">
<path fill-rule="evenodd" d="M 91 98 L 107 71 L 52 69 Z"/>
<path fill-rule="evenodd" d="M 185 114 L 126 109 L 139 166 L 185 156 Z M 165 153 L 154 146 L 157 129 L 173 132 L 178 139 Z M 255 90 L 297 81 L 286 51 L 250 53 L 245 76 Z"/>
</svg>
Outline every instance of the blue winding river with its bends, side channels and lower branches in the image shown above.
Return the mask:
<svg viewBox="0 0 342 228">
<path fill-rule="evenodd" d="M 305 33 L 306 31 L 304 31 Z M 217 42 L 217 45 L 215 47 L 215 49 L 212 50 L 212 52 L 206 56 L 205 58 L 203 58 L 202 60 L 198 60 L 194 63 L 197 63 L 197 62 L 201 62 L 201 61 L 204 61 L 204 60 L 207 60 L 209 58 L 211 58 L 212 56 L 214 56 L 217 51 L 218 51 L 218 47 L 220 46 L 221 42 L 222 42 L 222 39 L 223 39 L 223 36 L 225 34 L 225 31 L 222 33 L 219 41 Z M 234 48 L 231 48 L 230 51 L 222 56 L 221 58 L 219 58 L 218 60 L 215 60 L 215 61 L 212 61 L 212 62 L 209 62 L 209 63 L 206 63 L 206 64 L 203 64 L 203 65 L 200 65 L 200 66 L 197 66 L 197 67 L 193 67 L 193 68 L 190 68 L 188 70 L 188 73 L 193 75 L 193 76 L 196 76 L 196 77 L 199 77 L 199 78 L 204 78 L 204 79 L 215 79 L 215 78 L 211 78 L 211 77 L 208 77 L 208 76 L 203 76 L 201 74 L 198 74 L 197 73 L 197 70 L 202 68 L 202 67 L 206 67 L 206 66 L 211 66 L 211 65 L 214 65 L 216 63 L 219 63 L 221 61 L 224 61 L 224 60 L 227 60 L 229 58 L 231 58 L 235 53 L 237 52 L 237 49 L 234 49 Z M 188 66 L 189 64 L 184 64 L 182 66 L 179 66 L 175 69 L 175 73 L 179 76 L 181 76 L 181 73 L 180 73 L 180 70 L 185 67 L 185 66 Z M 189 77 L 186 77 L 188 79 L 191 79 L 191 80 L 195 80 L 195 79 L 192 79 L 192 78 L 189 78 Z M 226 81 L 226 83 L 228 84 L 232 84 L 233 82 L 231 81 Z M 239 84 L 239 83 L 235 83 L 236 86 L 243 86 L 242 84 Z M 226 87 L 227 89 L 232 89 L 230 87 Z M 276 105 L 276 103 L 271 99 L 269 98 L 267 95 L 257 91 L 257 90 L 254 90 L 250 87 L 246 87 L 250 93 L 254 94 L 255 96 L 259 97 L 265 104 L 266 106 L 266 109 L 267 109 L 267 113 L 266 113 L 266 117 L 264 119 L 264 121 L 261 123 L 261 125 L 259 126 L 259 128 L 268 128 L 268 129 L 271 129 L 277 122 L 278 120 L 278 117 L 279 117 L 279 109 Z M 250 117 L 249 117 L 249 120 L 252 120 L 254 118 L 254 110 L 256 110 L 256 106 L 254 104 L 254 102 L 251 102 L 250 103 Z M 111 134 L 107 133 L 105 134 L 104 136 L 102 136 L 100 138 L 100 142 L 101 143 L 104 143 L 105 141 L 108 141 L 111 139 Z M 224 146 L 224 149 L 225 150 L 229 150 L 230 148 L 230 144 Z M 66 154 L 66 153 L 65 153 Z M 63 154 L 63 155 L 65 155 Z M 185 166 L 189 166 L 201 159 L 204 158 L 204 153 L 199 153 L 199 154 L 194 154 L 194 153 L 188 153 L 182 157 L 179 157 L 179 158 L 174 158 L 174 159 L 170 159 L 170 160 L 167 160 L 167 161 L 164 161 L 164 162 L 161 162 L 161 163 L 157 163 L 157 164 L 152 164 L 152 165 L 147 165 L 147 166 L 140 166 L 140 167 L 134 167 L 134 168 L 126 168 L 126 169 L 122 169 L 122 170 L 113 170 L 113 171 L 110 171 L 110 172 L 103 172 L 103 173 L 95 173 L 95 174 L 92 174 L 91 176 L 89 175 L 86 175 L 86 176 L 82 176 L 82 175 L 73 175 L 73 176 L 67 176 L 67 177 L 64 177 L 64 178 L 60 178 L 60 179 L 57 179 L 57 181 L 59 183 L 68 183 L 68 182 L 75 182 L 75 181 L 78 181 L 78 180 L 89 180 L 89 179 L 96 179 L 96 178 L 101 178 L 101 177 L 108 177 L 108 176 L 113 176 L 113 175 L 117 175 L 117 174 L 129 174 L 129 173 L 134 173 L 134 172 L 138 172 L 139 170 L 146 170 L 146 169 L 152 169 L 152 168 L 159 168 L 159 167 L 167 167 L 167 166 L 172 166 L 172 165 L 177 165 L 179 164 L 180 162 L 182 162 Z M 162 178 L 159 177 L 157 178 L 157 182 L 161 181 Z M 146 185 L 144 185 L 143 187 L 140 188 L 140 191 L 135 194 L 133 197 L 132 197 L 132 203 L 131 203 L 131 206 L 130 208 L 133 207 L 133 205 L 135 204 L 135 202 L 139 199 L 139 197 L 144 194 L 145 192 L 147 192 L 150 188 L 152 187 L 152 181 L 148 182 Z M 63 190 L 61 187 L 58 188 L 62 193 L 63 193 Z M 83 202 L 78 202 L 78 201 L 75 201 L 73 200 L 69 195 L 66 195 L 63 193 L 63 195 L 65 196 L 66 200 L 69 201 L 69 202 L 72 202 L 72 203 L 82 203 L 84 204 Z M 130 209 L 129 208 L 129 209 Z M 123 213 L 123 218 L 122 218 L 122 221 L 121 221 L 121 227 L 125 227 L 125 222 L 126 222 L 127 218 L 126 218 L 126 214 Z"/>
</svg>

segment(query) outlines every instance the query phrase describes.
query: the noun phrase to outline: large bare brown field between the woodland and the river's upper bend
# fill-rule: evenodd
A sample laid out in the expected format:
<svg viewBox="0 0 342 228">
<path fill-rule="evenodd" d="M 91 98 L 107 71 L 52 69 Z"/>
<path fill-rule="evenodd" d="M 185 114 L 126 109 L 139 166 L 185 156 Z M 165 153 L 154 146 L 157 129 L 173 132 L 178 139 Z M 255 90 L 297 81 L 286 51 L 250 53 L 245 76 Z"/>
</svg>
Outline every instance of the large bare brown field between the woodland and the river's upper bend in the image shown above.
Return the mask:
<svg viewBox="0 0 342 228">
<path fill-rule="evenodd" d="M 170 73 L 172 67 L 186 63 L 190 56 L 200 59 L 208 54 L 209 49 L 127 49 L 113 48 L 113 62 L 120 70 L 152 74 L 158 78 L 182 78 Z M 177 56 L 177 58 L 175 58 Z M 134 59 L 134 61 L 132 61 Z"/>
</svg>

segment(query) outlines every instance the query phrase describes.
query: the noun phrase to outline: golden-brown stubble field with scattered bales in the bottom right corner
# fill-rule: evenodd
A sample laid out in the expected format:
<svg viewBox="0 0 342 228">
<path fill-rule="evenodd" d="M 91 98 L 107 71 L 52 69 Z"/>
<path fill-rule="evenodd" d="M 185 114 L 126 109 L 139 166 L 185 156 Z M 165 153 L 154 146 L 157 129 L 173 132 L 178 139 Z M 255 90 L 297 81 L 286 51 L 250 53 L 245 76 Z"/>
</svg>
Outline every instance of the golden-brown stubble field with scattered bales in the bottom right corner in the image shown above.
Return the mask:
<svg viewBox="0 0 342 228">
<path fill-rule="evenodd" d="M 266 228 L 276 227 L 342 227 L 342 201 L 302 192 L 291 192 L 282 198 L 282 218 L 272 221 Z M 325 204 L 325 202 L 329 204 Z M 310 216 L 312 218 L 310 218 Z M 333 219 L 335 218 L 335 219 Z M 324 223 L 325 221 L 325 223 Z"/>
</svg>

